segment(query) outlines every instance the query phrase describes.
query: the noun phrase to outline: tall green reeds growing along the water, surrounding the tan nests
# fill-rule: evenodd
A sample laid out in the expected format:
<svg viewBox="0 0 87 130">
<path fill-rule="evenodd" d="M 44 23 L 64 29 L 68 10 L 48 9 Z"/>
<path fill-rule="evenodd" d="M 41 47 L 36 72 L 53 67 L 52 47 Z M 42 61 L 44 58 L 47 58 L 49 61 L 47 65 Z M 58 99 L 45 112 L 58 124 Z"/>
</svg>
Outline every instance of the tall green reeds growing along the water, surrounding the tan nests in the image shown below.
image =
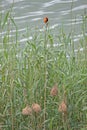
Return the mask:
<svg viewBox="0 0 87 130">
<path fill-rule="evenodd" d="M 86 18 L 77 52 L 74 36 L 65 34 L 63 28 L 54 36 L 46 27 L 20 48 L 17 25 L 10 12 L 0 22 L 1 29 L 6 29 L 0 45 L 0 129 L 86 130 Z M 12 27 L 16 30 L 15 39 L 9 37 Z M 29 37 L 27 31 L 25 36 Z M 80 51 L 81 47 L 83 51 Z M 52 97 L 50 91 L 55 84 L 58 94 Z M 62 101 L 66 101 L 66 113 L 58 111 Z M 40 113 L 22 115 L 23 108 L 33 103 L 41 106 Z"/>
</svg>

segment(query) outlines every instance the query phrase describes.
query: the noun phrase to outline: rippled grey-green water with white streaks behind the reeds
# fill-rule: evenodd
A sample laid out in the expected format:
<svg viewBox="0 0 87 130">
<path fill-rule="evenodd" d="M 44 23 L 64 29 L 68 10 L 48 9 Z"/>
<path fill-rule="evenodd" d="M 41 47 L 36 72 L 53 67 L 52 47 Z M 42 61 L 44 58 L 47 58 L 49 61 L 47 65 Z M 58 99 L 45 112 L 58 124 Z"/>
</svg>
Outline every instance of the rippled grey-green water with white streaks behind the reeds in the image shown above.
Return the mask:
<svg viewBox="0 0 87 130">
<path fill-rule="evenodd" d="M 27 27 L 30 32 L 34 32 L 36 28 L 43 30 L 45 16 L 49 18 L 49 28 L 54 30 L 54 34 L 61 26 L 64 27 L 66 33 L 69 33 L 72 25 L 75 40 L 81 37 L 81 26 L 83 16 L 87 11 L 87 0 L 0 0 L 2 18 L 12 6 L 11 16 L 17 25 L 20 42 L 27 40 L 23 37 Z M 11 28 L 11 37 L 15 37 L 15 31 L 14 27 Z M 3 38 L 5 33 L 6 30 L 2 30 L 0 37 Z M 32 39 L 32 36 L 30 35 L 29 38 Z"/>
</svg>

